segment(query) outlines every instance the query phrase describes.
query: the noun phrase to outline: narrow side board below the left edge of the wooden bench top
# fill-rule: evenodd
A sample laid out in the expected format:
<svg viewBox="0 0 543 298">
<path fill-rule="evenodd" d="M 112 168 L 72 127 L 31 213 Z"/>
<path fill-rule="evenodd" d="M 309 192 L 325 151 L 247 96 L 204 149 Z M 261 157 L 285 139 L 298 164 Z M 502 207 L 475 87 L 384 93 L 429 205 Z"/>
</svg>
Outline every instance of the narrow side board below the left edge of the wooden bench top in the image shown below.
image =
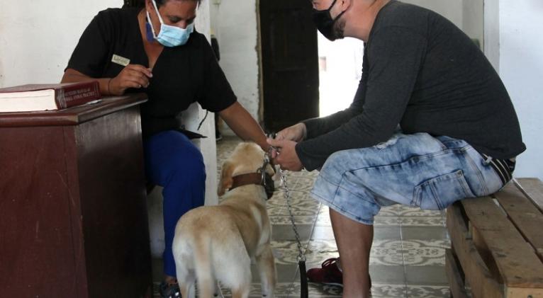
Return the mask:
<svg viewBox="0 0 543 298">
<path fill-rule="evenodd" d="M 447 229 L 449 230 L 454 253 L 458 256 L 466 280 L 471 285 L 473 297 L 501 298 L 503 297 L 502 287 L 493 279 L 486 264 L 478 254 L 460 210 L 460 203 L 455 203 L 447 208 Z"/>
</svg>

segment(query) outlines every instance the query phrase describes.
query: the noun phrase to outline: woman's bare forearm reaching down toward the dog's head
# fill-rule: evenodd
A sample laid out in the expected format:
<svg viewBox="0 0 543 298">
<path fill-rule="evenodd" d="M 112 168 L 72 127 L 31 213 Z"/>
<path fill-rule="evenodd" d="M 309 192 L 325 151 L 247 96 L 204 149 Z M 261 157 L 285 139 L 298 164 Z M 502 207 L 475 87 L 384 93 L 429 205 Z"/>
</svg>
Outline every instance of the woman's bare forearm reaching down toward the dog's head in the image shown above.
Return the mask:
<svg viewBox="0 0 543 298">
<path fill-rule="evenodd" d="M 269 144 L 266 142 L 266 134 L 262 131 L 257 121 L 240 105 L 235 102 L 228 108 L 219 112 L 220 118 L 244 141 L 250 140 L 257 143 L 264 151 L 267 151 Z"/>
</svg>

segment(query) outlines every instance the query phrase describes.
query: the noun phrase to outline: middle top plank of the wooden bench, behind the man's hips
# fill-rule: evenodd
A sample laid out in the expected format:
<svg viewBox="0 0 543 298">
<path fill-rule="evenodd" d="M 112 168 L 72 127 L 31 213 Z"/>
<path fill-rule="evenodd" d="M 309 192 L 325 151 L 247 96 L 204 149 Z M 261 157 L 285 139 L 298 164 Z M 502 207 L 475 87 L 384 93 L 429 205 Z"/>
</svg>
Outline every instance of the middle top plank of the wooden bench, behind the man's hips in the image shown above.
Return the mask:
<svg viewBox="0 0 543 298">
<path fill-rule="evenodd" d="M 496 199 L 543 262 L 543 213 L 513 184 L 496 193 Z"/>
</svg>

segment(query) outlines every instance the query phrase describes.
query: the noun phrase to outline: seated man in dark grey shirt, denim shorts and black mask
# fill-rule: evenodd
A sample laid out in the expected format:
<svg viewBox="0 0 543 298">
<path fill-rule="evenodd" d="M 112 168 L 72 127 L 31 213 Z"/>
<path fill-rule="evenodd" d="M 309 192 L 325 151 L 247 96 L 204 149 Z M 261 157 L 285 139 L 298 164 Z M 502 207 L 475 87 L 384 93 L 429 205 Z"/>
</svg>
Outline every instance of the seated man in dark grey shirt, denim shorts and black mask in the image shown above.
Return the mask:
<svg viewBox="0 0 543 298">
<path fill-rule="evenodd" d="M 358 91 L 346 110 L 268 142 L 281 168 L 320 169 L 311 193 L 330 207 L 343 265 L 327 260 L 308 277 L 366 297 L 382 206 L 441 210 L 494 193 L 526 148 L 498 74 L 447 19 L 395 0 L 313 0 L 313 20 L 330 40 L 366 42 Z"/>
</svg>

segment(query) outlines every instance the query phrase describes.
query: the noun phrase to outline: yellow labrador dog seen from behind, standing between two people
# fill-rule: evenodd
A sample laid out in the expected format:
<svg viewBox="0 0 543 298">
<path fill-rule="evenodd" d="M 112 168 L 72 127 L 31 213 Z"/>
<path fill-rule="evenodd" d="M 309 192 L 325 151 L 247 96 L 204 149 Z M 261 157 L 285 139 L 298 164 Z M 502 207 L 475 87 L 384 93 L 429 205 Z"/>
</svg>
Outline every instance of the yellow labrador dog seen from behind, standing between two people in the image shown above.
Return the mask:
<svg viewBox="0 0 543 298">
<path fill-rule="evenodd" d="M 257 144 L 239 144 L 223 164 L 218 187 L 218 195 L 224 195 L 222 202 L 198 207 L 179 219 L 173 251 L 183 298 L 194 297 L 196 280 L 199 297 L 219 294 L 217 281 L 232 290 L 233 298 L 248 297 L 253 257 L 262 280 L 262 296 L 274 297 L 276 268 L 266 191 L 257 184 L 235 187 L 240 184 L 236 178 L 257 173 L 263 160 L 264 151 Z M 265 171 L 274 173 L 269 165 Z"/>
</svg>

